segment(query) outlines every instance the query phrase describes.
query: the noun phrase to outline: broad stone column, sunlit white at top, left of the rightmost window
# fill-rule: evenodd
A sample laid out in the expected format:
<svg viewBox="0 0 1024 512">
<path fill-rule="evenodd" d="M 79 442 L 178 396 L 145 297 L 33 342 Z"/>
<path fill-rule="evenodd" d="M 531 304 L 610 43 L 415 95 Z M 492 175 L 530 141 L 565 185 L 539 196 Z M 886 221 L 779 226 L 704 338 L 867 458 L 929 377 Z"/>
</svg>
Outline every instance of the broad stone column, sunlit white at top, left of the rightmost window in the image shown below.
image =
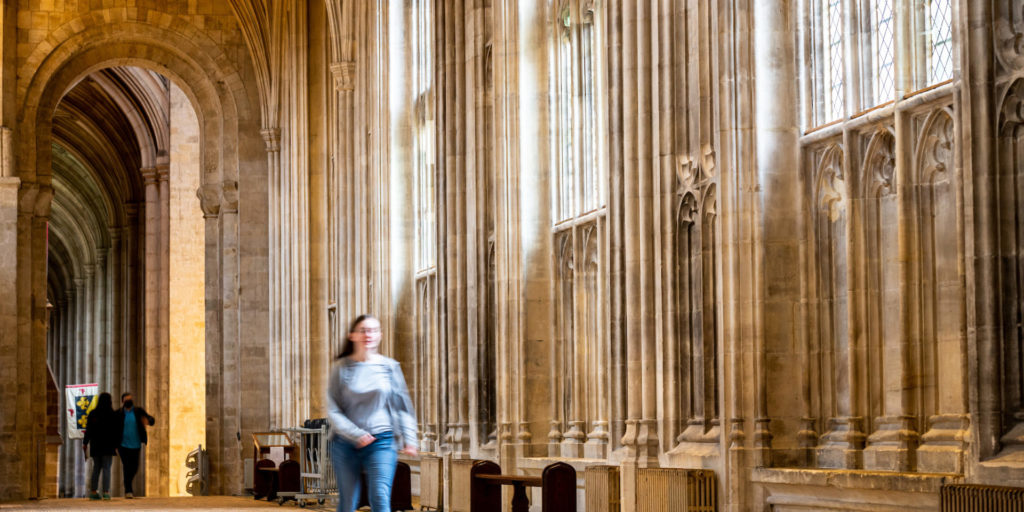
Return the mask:
<svg viewBox="0 0 1024 512">
<path fill-rule="evenodd" d="M 764 2 L 754 7 L 754 73 L 755 115 L 757 132 L 756 166 L 764 187 L 760 205 L 750 213 L 758 216 L 762 229 L 763 256 L 755 261 L 763 272 L 764 285 L 756 293 L 764 294 L 762 301 L 752 303 L 754 314 L 763 317 L 762 332 L 755 334 L 753 380 L 746 383 L 754 392 L 754 456 L 755 465 L 771 465 L 772 434 L 768 428 L 767 388 L 802 375 L 799 351 L 788 356 L 773 357 L 766 368 L 766 351 L 785 353 L 791 345 L 792 333 L 800 324 L 795 317 L 801 304 L 801 281 L 794 279 L 793 267 L 800 260 L 803 232 L 801 177 L 799 173 L 799 112 L 797 83 L 797 49 L 795 29 L 796 4 L 783 5 Z M 760 208 L 757 208 L 760 206 Z M 768 215 L 765 211 L 769 210 Z M 768 343 L 778 346 L 767 347 Z M 774 379 L 768 380 L 771 373 Z M 801 414 L 806 410 L 807 397 L 792 393 L 788 402 L 779 402 L 779 412 L 772 415 L 786 428 L 786 432 L 800 430 Z M 788 416 L 780 414 L 785 412 Z M 851 433 L 851 435 L 855 435 Z M 861 437 L 862 439 L 862 434 Z M 784 439 L 788 449 L 797 449 L 795 438 Z"/>
</svg>

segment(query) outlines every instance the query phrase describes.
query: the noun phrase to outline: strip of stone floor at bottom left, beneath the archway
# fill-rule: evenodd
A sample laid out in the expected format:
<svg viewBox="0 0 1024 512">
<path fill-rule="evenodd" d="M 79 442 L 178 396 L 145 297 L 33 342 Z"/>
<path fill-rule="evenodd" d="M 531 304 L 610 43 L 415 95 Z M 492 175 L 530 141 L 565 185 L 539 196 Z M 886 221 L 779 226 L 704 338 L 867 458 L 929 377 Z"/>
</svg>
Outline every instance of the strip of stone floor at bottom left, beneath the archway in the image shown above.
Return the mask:
<svg viewBox="0 0 1024 512">
<path fill-rule="evenodd" d="M 285 507 L 300 510 L 295 502 L 289 502 Z M 33 511 L 63 511 L 63 510 L 139 510 L 157 512 L 164 510 L 191 510 L 201 512 L 228 510 L 285 510 L 276 502 L 253 500 L 252 498 L 211 496 L 202 498 L 137 498 L 125 500 L 115 498 L 111 501 L 91 501 L 82 498 L 66 500 L 34 500 L 25 502 L 0 503 L 0 511 L 33 510 Z M 334 510 L 330 503 L 324 506 L 307 506 L 303 510 Z"/>
</svg>

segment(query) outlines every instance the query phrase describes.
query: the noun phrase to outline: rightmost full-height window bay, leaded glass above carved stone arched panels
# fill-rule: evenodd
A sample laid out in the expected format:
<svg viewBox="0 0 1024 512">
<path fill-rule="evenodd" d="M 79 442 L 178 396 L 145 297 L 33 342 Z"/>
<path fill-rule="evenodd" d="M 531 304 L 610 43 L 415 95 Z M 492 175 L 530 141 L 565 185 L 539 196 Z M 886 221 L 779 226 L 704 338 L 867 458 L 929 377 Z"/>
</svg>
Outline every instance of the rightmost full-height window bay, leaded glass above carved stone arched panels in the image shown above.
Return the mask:
<svg viewBox="0 0 1024 512">
<path fill-rule="evenodd" d="M 959 367 L 936 355 L 966 337 L 954 16 L 949 0 L 804 3 L 811 465 L 962 468 Z"/>
</svg>

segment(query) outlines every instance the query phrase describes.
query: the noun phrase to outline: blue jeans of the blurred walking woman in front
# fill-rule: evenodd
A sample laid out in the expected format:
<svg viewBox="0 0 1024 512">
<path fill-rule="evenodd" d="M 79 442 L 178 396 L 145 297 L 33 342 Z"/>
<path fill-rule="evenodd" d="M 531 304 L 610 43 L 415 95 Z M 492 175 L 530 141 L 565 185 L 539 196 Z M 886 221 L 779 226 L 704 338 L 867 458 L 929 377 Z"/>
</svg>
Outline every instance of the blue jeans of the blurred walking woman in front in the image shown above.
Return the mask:
<svg viewBox="0 0 1024 512">
<path fill-rule="evenodd" d="M 338 480 L 338 512 L 352 512 L 359 503 L 359 474 L 367 473 L 370 508 L 391 511 L 391 482 L 398 465 L 391 432 L 374 434 L 374 442 L 361 449 L 340 437 L 331 438 L 331 463 Z"/>
</svg>

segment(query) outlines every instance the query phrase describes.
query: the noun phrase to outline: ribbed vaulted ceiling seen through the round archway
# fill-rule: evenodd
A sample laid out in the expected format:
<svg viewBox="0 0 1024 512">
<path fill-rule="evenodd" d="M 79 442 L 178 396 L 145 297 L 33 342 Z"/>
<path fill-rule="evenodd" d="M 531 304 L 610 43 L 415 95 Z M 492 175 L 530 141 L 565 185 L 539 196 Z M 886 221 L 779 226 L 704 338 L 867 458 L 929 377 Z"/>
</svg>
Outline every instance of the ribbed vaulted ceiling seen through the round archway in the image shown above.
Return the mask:
<svg viewBox="0 0 1024 512">
<path fill-rule="evenodd" d="M 139 68 L 109 68 L 79 81 L 53 114 L 50 298 L 82 279 L 131 222 L 143 200 L 140 169 L 166 157 L 166 78 Z"/>
</svg>

